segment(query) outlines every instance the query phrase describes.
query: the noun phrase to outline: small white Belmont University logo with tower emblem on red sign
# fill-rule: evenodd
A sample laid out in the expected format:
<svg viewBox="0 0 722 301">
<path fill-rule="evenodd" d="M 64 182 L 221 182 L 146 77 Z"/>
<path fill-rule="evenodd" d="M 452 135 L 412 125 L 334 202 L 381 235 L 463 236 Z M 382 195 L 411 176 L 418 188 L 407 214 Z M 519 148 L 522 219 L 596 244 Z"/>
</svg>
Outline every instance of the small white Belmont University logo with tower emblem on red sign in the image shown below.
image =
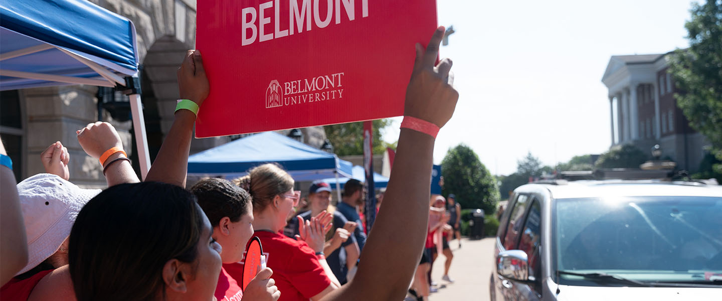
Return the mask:
<svg viewBox="0 0 722 301">
<path fill-rule="evenodd" d="M 266 108 L 340 100 L 344 97 L 343 77 L 344 72 L 339 72 L 283 84 L 271 80 L 266 88 Z"/>
</svg>

